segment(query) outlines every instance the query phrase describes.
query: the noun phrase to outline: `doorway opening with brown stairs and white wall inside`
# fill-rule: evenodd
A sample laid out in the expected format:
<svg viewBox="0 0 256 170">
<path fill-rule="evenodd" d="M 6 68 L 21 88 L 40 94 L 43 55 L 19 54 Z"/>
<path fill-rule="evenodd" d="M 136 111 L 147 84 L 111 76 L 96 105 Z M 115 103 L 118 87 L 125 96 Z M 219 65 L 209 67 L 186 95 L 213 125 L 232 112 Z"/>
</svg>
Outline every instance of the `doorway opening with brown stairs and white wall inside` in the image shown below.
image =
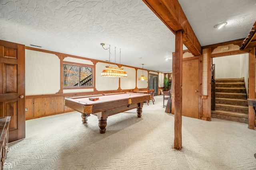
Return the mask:
<svg viewBox="0 0 256 170">
<path fill-rule="evenodd" d="M 248 53 L 212 58 L 212 118 L 248 123 L 248 78 Z"/>
</svg>

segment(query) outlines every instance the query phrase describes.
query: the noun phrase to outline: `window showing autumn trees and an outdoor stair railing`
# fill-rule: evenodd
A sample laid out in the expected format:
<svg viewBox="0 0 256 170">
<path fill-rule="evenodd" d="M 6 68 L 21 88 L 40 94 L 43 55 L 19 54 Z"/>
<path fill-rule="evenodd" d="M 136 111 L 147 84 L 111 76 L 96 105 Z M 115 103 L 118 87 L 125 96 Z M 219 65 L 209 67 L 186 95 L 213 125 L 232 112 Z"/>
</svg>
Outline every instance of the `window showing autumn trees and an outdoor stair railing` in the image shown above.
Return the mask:
<svg viewBox="0 0 256 170">
<path fill-rule="evenodd" d="M 63 64 L 64 87 L 92 86 L 92 67 Z"/>
</svg>

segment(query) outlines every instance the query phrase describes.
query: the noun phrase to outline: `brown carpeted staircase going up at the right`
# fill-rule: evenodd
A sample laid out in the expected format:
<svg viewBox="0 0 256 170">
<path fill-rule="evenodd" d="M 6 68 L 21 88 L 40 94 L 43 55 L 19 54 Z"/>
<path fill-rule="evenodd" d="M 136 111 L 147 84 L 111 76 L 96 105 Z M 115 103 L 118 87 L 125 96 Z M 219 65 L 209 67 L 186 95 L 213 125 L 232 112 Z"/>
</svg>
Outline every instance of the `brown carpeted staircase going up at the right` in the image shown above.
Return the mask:
<svg viewBox="0 0 256 170">
<path fill-rule="evenodd" d="M 215 79 L 215 111 L 212 118 L 248 123 L 244 78 Z"/>
</svg>

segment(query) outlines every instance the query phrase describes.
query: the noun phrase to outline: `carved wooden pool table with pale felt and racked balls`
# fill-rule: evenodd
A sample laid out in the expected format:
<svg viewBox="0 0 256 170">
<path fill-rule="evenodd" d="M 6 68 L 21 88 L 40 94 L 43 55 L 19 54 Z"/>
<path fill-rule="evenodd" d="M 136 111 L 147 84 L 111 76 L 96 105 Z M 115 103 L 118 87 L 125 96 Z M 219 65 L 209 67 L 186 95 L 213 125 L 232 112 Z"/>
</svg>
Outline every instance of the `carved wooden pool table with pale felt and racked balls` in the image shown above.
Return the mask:
<svg viewBox="0 0 256 170">
<path fill-rule="evenodd" d="M 91 114 L 97 115 L 100 133 L 105 133 L 108 116 L 137 108 L 137 117 L 141 117 L 143 103 L 150 100 L 150 96 L 150 94 L 124 92 L 70 97 L 64 99 L 64 105 L 82 113 L 83 123 L 87 123 L 87 118 Z M 89 98 L 98 98 L 98 100 L 92 101 Z"/>
</svg>

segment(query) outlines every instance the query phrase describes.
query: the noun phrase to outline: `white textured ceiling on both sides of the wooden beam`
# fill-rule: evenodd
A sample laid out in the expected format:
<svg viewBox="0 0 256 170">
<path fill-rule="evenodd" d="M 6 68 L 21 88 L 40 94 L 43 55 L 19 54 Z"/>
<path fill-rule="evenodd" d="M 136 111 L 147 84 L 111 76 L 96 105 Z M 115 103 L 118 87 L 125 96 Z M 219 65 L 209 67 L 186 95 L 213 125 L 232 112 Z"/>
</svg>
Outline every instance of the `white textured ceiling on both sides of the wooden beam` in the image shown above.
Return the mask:
<svg viewBox="0 0 256 170">
<path fill-rule="evenodd" d="M 201 46 L 244 39 L 256 0 L 178 0 Z M 216 23 L 226 21 L 223 29 Z M 172 71 L 175 36 L 142 0 L 0 0 L 0 39 L 41 49 Z M 184 49 L 186 49 L 184 47 Z"/>
</svg>

